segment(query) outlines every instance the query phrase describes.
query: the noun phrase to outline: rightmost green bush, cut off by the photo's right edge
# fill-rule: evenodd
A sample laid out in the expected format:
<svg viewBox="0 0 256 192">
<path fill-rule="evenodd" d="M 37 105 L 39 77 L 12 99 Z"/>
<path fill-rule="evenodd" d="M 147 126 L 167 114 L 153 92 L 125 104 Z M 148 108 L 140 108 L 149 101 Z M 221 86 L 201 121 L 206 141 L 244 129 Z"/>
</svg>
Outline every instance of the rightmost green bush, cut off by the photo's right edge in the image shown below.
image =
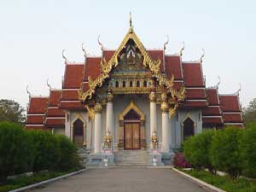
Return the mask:
<svg viewBox="0 0 256 192">
<path fill-rule="evenodd" d="M 256 178 L 256 124 L 247 125 L 241 137 L 243 174 Z"/>
</svg>

